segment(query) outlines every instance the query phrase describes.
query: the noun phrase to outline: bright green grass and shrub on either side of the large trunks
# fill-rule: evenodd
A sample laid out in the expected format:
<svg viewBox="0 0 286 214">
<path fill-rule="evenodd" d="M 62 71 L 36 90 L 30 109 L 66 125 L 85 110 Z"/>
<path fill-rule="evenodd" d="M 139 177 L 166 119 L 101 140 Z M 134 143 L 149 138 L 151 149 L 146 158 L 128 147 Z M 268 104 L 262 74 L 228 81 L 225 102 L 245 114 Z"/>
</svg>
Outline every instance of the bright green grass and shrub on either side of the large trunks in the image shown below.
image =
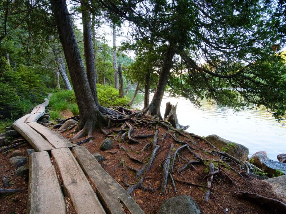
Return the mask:
<svg viewBox="0 0 286 214">
<path fill-rule="evenodd" d="M 111 86 L 96 84 L 98 101 L 104 107 L 125 106 L 130 101 L 126 96 L 119 98 L 118 90 Z M 74 90 L 58 90 L 54 92 L 49 101 L 50 118 L 57 119 L 61 116 L 61 111 L 70 110 L 73 115 L 79 115 L 78 105 Z"/>
</svg>

